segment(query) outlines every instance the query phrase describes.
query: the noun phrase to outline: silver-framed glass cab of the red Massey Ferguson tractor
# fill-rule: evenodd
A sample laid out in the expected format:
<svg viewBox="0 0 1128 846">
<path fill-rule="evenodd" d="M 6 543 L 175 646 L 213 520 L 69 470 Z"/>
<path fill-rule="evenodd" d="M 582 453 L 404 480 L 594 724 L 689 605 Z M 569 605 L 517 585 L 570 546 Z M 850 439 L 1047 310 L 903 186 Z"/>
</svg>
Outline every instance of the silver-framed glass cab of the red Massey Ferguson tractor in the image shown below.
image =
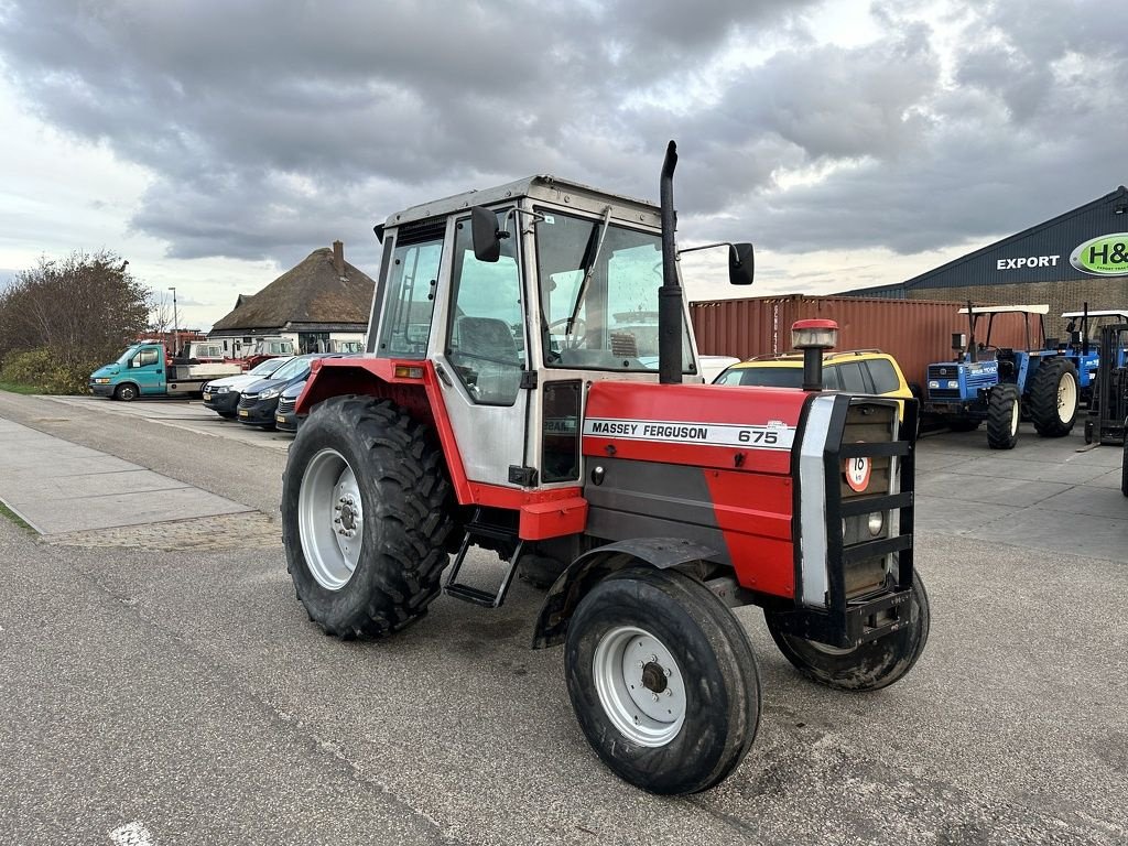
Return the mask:
<svg viewBox="0 0 1128 846">
<path fill-rule="evenodd" d="M 660 376 L 660 210 L 534 176 L 406 209 L 376 230 L 368 352 L 433 373 L 442 402 L 428 407 L 442 408 L 438 429 L 460 446 L 467 484 L 575 485 L 585 386 Z M 751 245 L 730 246 L 730 280 L 751 277 Z M 680 283 L 675 305 L 677 381 L 700 385 Z M 302 404 L 329 381 L 315 380 Z"/>
</svg>

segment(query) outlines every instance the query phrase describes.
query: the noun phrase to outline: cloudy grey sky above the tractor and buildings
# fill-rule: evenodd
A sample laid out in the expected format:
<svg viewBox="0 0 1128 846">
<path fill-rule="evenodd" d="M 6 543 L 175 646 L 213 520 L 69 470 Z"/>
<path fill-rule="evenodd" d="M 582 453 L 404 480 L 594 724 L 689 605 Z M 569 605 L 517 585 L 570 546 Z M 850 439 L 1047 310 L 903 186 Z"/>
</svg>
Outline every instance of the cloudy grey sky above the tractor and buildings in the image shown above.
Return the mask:
<svg viewBox="0 0 1128 846">
<path fill-rule="evenodd" d="M 550 173 L 895 283 L 1128 182 L 1122 0 L 0 0 L 0 280 L 111 249 L 208 327 L 340 238 Z M 732 296 L 705 254 L 691 299 Z M 740 291 L 747 296 L 747 291 Z"/>
</svg>

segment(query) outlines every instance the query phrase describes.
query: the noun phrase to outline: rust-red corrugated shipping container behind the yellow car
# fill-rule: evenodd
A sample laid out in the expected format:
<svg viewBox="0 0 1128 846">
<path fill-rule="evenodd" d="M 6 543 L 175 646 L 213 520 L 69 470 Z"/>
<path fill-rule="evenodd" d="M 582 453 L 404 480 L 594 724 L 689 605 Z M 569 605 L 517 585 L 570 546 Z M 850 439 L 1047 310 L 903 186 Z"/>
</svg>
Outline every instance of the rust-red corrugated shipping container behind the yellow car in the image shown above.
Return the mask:
<svg viewBox="0 0 1128 846">
<path fill-rule="evenodd" d="M 931 363 L 953 359 L 952 334 L 968 332 L 967 302 L 883 300 L 858 297 L 750 297 L 690 302 L 697 350 L 703 355 L 778 355 L 791 351 L 791 325 L 818 317 L 838 324 L 838 350 L 881 350 L 897 359 L 905 378 L 923 385 Z M 1031 343 L 1042 343 L 1037 316 Z M 976 325 L 976 341 L 986 341 L 987 318 Z M 1022 315 L 999 315 L 992 328 L 993 346 L 1024 350 Z"/>
</svg>

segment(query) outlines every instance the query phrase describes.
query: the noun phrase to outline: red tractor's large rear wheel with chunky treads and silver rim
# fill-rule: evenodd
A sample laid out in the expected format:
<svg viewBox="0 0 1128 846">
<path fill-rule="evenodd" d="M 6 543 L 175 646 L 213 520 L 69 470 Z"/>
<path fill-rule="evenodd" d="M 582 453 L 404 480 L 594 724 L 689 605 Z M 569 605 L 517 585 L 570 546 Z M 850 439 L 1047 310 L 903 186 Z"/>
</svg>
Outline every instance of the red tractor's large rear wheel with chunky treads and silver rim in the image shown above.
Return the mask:
<svg viewBox="0 0 1128 846">
<path fill-rule="evenodd" d="M 380 636 L 426 614 L 452 527 L 442 452 L 389 400 L 336 397 L 298 431 L 282 539 L 298 599 L 327 634 Z"/>
</svg>

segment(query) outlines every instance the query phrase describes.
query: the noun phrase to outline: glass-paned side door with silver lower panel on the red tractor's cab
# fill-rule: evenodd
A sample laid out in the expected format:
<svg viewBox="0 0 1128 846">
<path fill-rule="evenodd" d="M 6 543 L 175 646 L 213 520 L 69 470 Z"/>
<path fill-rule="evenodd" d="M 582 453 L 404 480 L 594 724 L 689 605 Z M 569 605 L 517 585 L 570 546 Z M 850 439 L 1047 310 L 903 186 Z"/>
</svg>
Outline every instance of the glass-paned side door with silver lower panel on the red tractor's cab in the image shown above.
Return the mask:
<svg viewBox="0 0 1128 846">
<path fill-rule="evenodd" d="M 505 210 L 496 212 L 505 229 Z M 531 486 L 527 456 L 528 369 L 520 239 L 501 243 L 497 262 L 474 256 L 470 218 L 453 221 L 440 384 L 466 476 L 472 482 Z"/>
</svg>

